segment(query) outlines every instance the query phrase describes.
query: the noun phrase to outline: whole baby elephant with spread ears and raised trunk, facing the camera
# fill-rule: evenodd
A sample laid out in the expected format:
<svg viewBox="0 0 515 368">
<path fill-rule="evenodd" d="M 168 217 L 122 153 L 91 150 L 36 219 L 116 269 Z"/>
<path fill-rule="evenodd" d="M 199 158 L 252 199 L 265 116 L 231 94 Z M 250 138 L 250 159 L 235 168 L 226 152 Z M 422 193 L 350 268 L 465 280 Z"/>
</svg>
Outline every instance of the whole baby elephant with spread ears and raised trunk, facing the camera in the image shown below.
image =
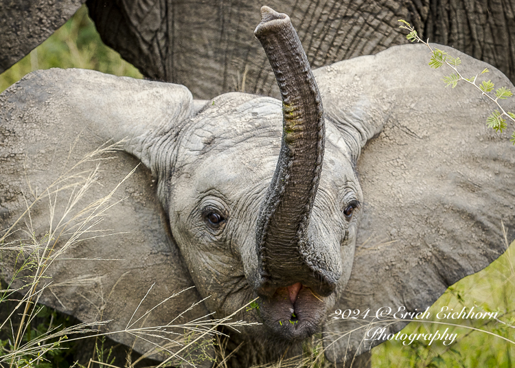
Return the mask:
<svg viewBox="0 0 515 368">
<path fill-rule="evenodd" d="M 193 326 L 188 357 L 213 356 L 208 323 L 227 349 L 243 343 L 233 365 L 295 356 L 319 333 L 328 360 L 349 365 L 382 342 L 363 320 L 425 310 L 504 251 L 501 224 L 515 237 L 515 150 L 485 128 L 486 99 L 444 88 L 426 46 L 311 71 L 288 16 L 261 15 L 282 102 L 196 101 L 80 69 L 36 71 L 1 94 L 0 244 L 32 244 L 40 303 L 112 320 L 102 329 L 116 341 L 177 365 L 173 333 Z M 438 47 L 464 75 L 488 67 L 513 88 Z M 17 255 L 2 253 L 6 279 Z M 260 324 L 235 332 L 219 321 L 233 312 Z"/>
</svg>

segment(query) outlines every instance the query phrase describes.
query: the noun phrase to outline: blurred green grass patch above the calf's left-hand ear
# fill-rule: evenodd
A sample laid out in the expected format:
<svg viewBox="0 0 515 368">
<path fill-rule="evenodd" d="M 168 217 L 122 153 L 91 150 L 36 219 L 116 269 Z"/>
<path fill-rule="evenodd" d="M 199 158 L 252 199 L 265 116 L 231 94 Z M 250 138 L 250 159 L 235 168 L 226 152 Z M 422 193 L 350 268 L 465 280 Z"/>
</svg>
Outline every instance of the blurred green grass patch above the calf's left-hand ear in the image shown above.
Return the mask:
<svg viewBox="0 0 515 368">
<path fill-rule="evenodd" d="M 31 71 L 55 67 L 93 69 L 115 76 L 142 78 L 133 65 L 102 43 L 85 5 L 29 55 L 0 74 L 0 92 Z"/>
</svg>

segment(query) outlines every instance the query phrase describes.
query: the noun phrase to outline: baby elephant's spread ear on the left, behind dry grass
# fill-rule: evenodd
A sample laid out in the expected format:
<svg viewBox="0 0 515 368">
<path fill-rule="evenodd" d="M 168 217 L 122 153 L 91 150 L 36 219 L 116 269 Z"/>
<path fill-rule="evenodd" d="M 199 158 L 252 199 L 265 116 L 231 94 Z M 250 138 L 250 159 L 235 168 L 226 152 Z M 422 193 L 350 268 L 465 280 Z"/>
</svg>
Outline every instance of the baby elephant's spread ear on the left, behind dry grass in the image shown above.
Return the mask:
<svg viewBox="0 0 515 368">
<path fill-rule="evenodd" d="M 81 321 L 111 320 L 104 332 L 130 330 L 110 337 L 152 358 L 178 351 L 172 341 L 191 338 L 184 330 L 149 327 L 184 325 L 208 312 L 170 236 L 148 167 L 155 170 L 172 152 L 166 142 L 192 114 L 190 91 L 51 69 L 4 91 L 0 107 L 4 279 L 22 259 L 38 258 L 45 264 L 32 270 L 43 275 L 39 302 Z M 13 286 L 24 283 L 17 277 Z"/>
</svg>

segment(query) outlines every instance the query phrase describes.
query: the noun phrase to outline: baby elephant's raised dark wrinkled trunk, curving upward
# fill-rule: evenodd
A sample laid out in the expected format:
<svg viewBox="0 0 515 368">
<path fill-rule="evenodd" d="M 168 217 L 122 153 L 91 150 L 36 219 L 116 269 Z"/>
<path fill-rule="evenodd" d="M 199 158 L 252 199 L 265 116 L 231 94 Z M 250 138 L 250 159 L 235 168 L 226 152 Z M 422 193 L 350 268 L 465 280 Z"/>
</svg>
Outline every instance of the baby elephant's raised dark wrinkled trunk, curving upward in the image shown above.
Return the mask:
<svg viewBox="0 0 515 368">
<path fill-rule="evenodd" d="M 283 101 L 281 151 L 257 225 L 258 292 L 270 296 L 277 287 L 302 282 L 328 294 L 336 280 L 324 279 L 317 271 L 308 236 L 323 161 L 321 97 L 286 14 L 262 7 L 261 23 L 254 34 L 271 63 Z"/>
</svg>

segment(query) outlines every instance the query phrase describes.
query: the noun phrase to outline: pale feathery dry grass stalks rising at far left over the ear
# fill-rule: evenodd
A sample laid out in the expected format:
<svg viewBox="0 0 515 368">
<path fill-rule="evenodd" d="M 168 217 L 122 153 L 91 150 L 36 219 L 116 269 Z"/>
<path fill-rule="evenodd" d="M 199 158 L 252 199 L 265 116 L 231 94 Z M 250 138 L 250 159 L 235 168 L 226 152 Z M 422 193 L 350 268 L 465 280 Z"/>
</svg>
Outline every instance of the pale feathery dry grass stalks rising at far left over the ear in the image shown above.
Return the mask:
<svg viewBox="0 0 515 368">
<path fill-rule="evenodd" d="M 92 235 L 89 238 L 95 238 L 95 228 L 102 222 L 102 218 L 106 216 L 106 211 L 111 209 L 114 205 L 119 203 L 119 200 L 115 203 L 112 202 L 113 195 L 130 175 L 135 172 L 134 168 L 125 178 L 120 181 L 106 196 L 93 201 L 89 205 L 78 209 L 80 200 L 87 194 L 93 183 L 96 183 L 96 176 L 99 172 L 99 163 L 106 160 L 103 157 L 104 154 L 116 152 L 121 147 L 122 142 L 117 142 L 111 145 L 103 145 L 84 155 L 77 163 L 71 166 L 69 169 L 64 169 L 63 173 L 53 181 L 41 194 L 38 194 L 32 189 L 32 185 L 28 180 L 27 176 L 27 187 L 29 188 L 30 194 L 33 196 L 32 203 L 29 204 L 25 196 L 25 203 L 27 208 L 23 211 L 23 214 L 14 221 L 14 224 L 5 231 L 2 231 L 3 235 L 0 238 L 0 251 L 17 252 L 15 262 L 15 269 L 10 280 L 8 280 L 8 288 L 0 290 L 0 303 L 10 298 L 14 292 L 21 292 L 25 290 L 25 293 L 21 297 L 14 310 L 8 314 L 7 319 L 0 323 L 0 329 L 11 322 L 14 313 L 21 311 L 21 321 L 16 332 L 12 330 L 12 345 L 7 349 L 5 354 L 0 358 L 0 362 L 9 362 L 9 366 L 19 365 L 20 361 L 26 361 L 28 365 L 39 361 L 41 357 L 47 352 L 55 349 L 61 339 L 64 339 L 67 334 L 85 334 L 92 332 L 91 326 L 93 325 L 104 325 L 106 321 L 94 322 L 94 323 L 81 323 L 72 327 L 49 328 L 46 334 L 41 334 L 37 338 L 34 338 L 27 343 L 22 342 L 22 337 L 27 334 L 27 329 L 30 329 L 30 323 L 38 314 L 39 309 L 35 307 L 38 303 L 39 297 L 42 292 L 47 290 L 51 285 L 49 277 L 45 274 L 47 270 L 52 266 L 54 260 L 60 255 L 65 253 L 70 246 L 77 244 L 84 240 L 84 235 Z M 82 165 L 86 163 L 96 163 L 93 170 L 84 171 L 79 170 Z M 65 189 L 71 190 L 71 194 L 67 200 L 66 207 L 60 219 L 56 221 L 56 203 L 60 193 Z M 37 239 L 34 235 L 33 223 L 31 210 L 34 208 L 36 203 L 41 203 L 44 198 L 48 199 L 49 205 L 49 229 L 43 238 Z M 27 224 L 27 233 L 30 238 L 25 240 L 10 240 L 6 241 L 8 236 L 15 234 L 15 227 L 24 219 Z M 71 231 L 67 231 L 71 230 Z M 67 240 L 64 240 L 63 238 Z M 106 236 L 106 234 L 100 235 Z M 12 238 L 12 237 L 11 237 Z M 57 247 L 58 242 L 62 240 L 60 247 Z M 30 241 L 32 244 L 27 244 Z M 19 262 L 20 261 L 20 262 Z M 21 264 L 21 265 L 20 265 Z M 28 273 L 28 275 L 27 275 Z M 12 287 L 14 283 L 23 284 L 20 287 Z M 57 339 L 57 343 L 46 343 L 48 340 Z M 5 350 L 5 348 L 4 348 Z M 36 360 L 30 358 L 35 356 Z"/>
</svg>

